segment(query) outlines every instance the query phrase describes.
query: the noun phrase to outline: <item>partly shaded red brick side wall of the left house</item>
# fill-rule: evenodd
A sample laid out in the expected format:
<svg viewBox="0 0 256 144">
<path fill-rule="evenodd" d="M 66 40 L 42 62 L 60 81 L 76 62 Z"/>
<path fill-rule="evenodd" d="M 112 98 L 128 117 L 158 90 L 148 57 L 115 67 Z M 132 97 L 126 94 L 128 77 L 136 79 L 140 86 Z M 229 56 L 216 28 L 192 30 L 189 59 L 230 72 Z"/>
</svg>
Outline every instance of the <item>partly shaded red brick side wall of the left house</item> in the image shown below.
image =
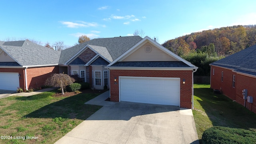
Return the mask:
<svg viewBox="0 0 256 144">
<path fill-rule="evenodd" d="M 44 86 L 44 82 L 49 76 L 53 73 L 59 73 L 59 67 L 28 68 L 26 71 L 28 88 L 40 88 Z"/>
</svg>

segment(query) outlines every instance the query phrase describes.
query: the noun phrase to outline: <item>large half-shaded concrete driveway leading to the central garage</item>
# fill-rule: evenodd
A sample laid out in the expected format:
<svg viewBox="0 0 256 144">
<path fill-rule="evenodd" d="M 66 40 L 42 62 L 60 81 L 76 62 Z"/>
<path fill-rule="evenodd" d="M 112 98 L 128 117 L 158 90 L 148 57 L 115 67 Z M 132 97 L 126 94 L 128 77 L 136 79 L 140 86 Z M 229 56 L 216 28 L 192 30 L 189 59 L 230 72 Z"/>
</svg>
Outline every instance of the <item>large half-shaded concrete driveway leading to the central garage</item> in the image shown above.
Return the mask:
<svg viewBox="0 0 256 144">
<path fill-rule="evenodd" d="M 103 106 L 55 144 L 199 144 L 191 109 L 132 102 Z"/>
</svg>

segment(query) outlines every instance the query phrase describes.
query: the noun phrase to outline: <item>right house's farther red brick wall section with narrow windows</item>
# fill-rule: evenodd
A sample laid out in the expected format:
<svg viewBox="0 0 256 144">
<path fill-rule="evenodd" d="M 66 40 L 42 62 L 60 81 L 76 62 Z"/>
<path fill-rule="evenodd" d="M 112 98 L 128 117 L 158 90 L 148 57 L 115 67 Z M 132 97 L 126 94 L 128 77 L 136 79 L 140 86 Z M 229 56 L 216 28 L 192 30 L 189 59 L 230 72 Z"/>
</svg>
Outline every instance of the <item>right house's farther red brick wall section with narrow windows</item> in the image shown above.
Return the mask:
<svg viewBox="0 0 256 144">
<path fill-rule="evenodd" d="M 213 69 L 214 69 L 214 75 L 212 74 Z M 223 71 L 223 82 L 221 81 L 222 71 Z M 232 70 L 211 66 L 211 88 L 221 90 L 225 96 L 228 96 L 230 99 L 235 100 L 236 84 L 238 82 L 235 82 L 235 88 L 233 88 L 232 87 L 233 75 L 236 75 L 236 73 L 232 72 Z"/>
</svg>

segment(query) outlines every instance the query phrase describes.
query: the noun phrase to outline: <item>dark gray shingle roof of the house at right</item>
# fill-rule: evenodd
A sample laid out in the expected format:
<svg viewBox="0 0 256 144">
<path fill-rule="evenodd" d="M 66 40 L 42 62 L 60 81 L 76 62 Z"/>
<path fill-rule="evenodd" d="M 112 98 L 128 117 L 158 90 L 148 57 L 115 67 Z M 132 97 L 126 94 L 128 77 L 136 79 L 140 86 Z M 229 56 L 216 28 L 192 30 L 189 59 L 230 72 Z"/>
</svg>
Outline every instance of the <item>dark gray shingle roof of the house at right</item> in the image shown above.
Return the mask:
<svg viewBox="0 0 256 144">
<path fill-rule="evenodd" d="M 256 45 L 248 47 L 211 65 L 234 69 L 236 72 L 256 76 Z"/>
</svg>

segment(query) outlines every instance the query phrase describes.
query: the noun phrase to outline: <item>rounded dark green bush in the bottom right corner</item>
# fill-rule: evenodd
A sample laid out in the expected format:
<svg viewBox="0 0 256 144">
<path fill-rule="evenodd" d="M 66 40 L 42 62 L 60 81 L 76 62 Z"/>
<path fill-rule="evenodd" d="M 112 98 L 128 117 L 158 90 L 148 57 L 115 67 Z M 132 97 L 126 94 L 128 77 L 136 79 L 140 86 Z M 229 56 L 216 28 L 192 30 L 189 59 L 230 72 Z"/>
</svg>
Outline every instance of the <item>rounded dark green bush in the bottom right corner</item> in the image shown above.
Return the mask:
<svg viewBox="0 0 256 144">
<path fill-rule="evenodd" d="M 256 132 L 240 128 L 214 126 L 204 131 L 203 144 L 255 144 Z"/>
</svg>

